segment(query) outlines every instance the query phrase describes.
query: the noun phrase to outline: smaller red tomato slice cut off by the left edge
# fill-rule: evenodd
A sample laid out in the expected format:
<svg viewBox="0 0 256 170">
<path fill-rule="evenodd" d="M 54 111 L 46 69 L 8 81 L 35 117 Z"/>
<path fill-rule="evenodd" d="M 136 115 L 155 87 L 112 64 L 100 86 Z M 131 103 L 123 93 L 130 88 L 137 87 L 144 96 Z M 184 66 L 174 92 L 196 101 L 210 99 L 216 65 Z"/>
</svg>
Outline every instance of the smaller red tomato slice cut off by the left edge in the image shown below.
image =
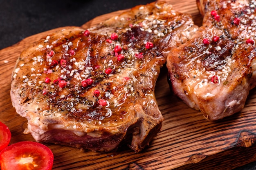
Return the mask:
<svg viewBox="0 0 256 170">
<path fill-rule="evenodd" d="M 0 151 L 3 150 L 8 144 L 10 143 L 11 140 L 11 131 L 10 129 L 0 122 Z"/>
</svg>

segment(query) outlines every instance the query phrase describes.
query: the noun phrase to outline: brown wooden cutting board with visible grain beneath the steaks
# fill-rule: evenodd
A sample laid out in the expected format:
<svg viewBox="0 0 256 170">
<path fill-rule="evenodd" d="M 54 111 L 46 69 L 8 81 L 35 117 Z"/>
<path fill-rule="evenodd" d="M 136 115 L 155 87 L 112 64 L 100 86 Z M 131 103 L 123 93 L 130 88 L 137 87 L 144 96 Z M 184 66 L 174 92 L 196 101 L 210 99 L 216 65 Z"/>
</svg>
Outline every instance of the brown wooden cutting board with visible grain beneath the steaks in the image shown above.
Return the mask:
<svg viewBox="0 0 256 170">
<path fill-rule="evenodd" d="M 195 24 L 202 17 L 195 0 L 167 0 L 180 11 L 190 13 Z M 88 28 L 122 11 L 96 17 L 82 27 Z M 10 144 L 34 141 L 22 132 L 27 120 L 18 116 L 11 105 L 10 80 L 16 59 L 22 50 L 62 28 L 27 37 L 0 50 L 0 121 L 11 130 Z M 68 146 L 46 144 L 54 153 L 54 170 L 63 169 L 232 169 L 256 161 L 256 91 L 252 90 L 245 108 L 223 120 L 210 122 L 202 114 L 186 106 L 173 95 L 167 83 L 167 69 L 162 68 L 155 94 L 165 120 L 157 137 L 141 153 L 129 148 L 117 152 L 94 153 Z"/>
</svg>

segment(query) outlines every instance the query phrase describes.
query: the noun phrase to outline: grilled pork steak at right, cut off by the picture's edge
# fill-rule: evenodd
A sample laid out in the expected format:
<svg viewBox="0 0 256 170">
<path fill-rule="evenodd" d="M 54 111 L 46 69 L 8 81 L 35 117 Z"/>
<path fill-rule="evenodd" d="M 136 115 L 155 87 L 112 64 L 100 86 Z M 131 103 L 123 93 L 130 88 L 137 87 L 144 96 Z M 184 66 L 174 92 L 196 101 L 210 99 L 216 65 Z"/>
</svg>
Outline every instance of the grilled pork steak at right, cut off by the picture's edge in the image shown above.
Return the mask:
<svg viewBox="0 0 256 170">
<path fill-rule="evenodd" d="M 173 91 L 205 118 L 245 105 L 256 79 L 256 13 L 252 0 L 198 0 L 203 24 L 167 58 Z"/>
</svg>

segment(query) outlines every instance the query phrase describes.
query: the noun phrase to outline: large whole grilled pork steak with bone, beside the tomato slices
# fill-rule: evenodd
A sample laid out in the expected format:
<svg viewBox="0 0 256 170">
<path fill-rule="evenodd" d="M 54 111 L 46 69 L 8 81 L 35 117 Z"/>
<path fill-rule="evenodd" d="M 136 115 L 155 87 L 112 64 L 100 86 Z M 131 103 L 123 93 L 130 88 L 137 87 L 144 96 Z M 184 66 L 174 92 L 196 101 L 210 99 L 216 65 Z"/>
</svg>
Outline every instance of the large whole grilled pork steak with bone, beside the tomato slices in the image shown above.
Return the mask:
<svg viewBox="0 0 256 170">
<path fill-rule="evenodd" d="M 43 37 L 21 53 L 12 76 L 25 133 L 92 151 L 122 142 L 141 151 L 164 120 L 154 94 L 160 67 L 196 29 L 190 15 L 157 2 Z"/>
</svg>

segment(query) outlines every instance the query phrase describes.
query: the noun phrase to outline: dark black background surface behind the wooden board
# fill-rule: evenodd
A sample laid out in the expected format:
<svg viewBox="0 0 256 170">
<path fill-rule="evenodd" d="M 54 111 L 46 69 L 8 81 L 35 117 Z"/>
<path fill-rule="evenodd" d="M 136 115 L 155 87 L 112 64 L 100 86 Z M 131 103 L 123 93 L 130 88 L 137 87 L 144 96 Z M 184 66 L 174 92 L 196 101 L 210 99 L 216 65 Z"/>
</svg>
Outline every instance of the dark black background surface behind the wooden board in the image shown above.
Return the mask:
<svg viewBox="0 0 256 170">
<path fill-rule="evenodd" d="M 0 49 L 30 35 L 62 26 L 81 26 L 99 15 L 153 1 L 0 0 Z M 236 170 L 256 170 L 256 162 Z"/>
</svg>

